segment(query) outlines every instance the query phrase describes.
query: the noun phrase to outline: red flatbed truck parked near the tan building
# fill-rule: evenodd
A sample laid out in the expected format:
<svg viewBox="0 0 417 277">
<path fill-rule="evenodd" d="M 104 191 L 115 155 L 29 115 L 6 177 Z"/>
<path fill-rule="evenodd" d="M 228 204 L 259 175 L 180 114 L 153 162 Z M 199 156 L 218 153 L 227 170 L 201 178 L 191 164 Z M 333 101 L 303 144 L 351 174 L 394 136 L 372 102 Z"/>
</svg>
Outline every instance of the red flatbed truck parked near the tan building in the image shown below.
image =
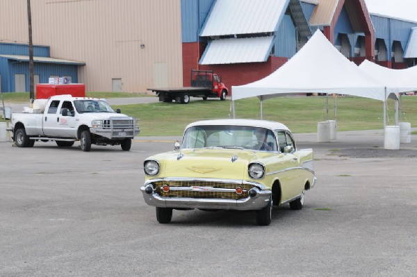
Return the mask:
<svg viewBox="0 0 417 277">
<path fill-rule="evenodd" d="M 161 102 L 175 100 L 183 104 L 190 102 L 190 96 L 202 97 L 204 100 L 208 97 L 224 100 L 229 94 L 229 90 L 213 70 L 195 69 L 191 70 L 191 87 L 160 87 L 147 90 L 155 92 Z"/>
</svg>

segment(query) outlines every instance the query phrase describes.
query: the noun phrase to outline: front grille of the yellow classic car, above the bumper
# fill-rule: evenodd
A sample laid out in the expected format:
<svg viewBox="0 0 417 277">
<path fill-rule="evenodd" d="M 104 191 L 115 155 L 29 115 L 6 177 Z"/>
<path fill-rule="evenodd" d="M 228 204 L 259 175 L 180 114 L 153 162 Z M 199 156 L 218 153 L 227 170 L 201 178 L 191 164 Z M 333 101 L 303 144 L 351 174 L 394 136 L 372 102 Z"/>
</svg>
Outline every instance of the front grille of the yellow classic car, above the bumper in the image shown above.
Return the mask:
<svg viewBox="0 0 417 277">
<path fill-rule="evenodd" d="M 159 196 L 196 199 L 245 199 L 249 196 L 248 191 L 253 187 L 247 184 L 212 181 L 156 181 L 153 184 Z M 164 186 L 168 186 L 170 190 L 165 192 Z M 239 187 L 242 189 L 241 194 L 236 192 Z"/>
</svg>

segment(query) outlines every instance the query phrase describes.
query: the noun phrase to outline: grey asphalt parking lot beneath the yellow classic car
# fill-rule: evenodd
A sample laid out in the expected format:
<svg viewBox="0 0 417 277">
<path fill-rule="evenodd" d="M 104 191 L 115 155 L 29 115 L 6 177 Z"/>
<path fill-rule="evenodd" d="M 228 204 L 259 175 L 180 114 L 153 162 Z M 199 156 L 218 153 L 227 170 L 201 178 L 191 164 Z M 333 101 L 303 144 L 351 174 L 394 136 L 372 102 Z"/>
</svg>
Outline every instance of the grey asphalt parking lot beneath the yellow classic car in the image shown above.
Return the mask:
<svg viewBox="0 0 417 277">
<path fill-rule="evenodd" d="M 201 210 L 158 224 L 142 161 L 178 137 L 137 137 L 129 152 L 0 142 L 0 276 L 416 276 L 417 136 L 400 151 L 381 131 L 295 137 L 318 184 L 265 227 Z"/>
</svg>

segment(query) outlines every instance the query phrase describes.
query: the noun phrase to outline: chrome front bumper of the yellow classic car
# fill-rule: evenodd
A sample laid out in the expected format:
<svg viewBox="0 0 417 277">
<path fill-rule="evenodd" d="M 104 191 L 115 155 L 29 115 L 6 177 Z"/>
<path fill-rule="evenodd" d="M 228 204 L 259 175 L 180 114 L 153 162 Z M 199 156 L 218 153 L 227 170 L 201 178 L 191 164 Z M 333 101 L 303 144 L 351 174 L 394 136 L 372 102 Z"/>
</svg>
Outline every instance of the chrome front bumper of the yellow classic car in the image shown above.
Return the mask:
<svg viewBox="0 0 417 277">
<path fill-rule="evenodd" d="M 148 194 L 145 189 L 152 182 L 147 182 L 140 187 L 143 198 L 148 205 L 154 205 L 160 208 L 199 208 L 199 209 L 222 209 L 222 210 L 261 210 L 270 201 L 272 192 L 270 190 L 260 190 L 259 187 L 253 187 L 256 190 L 256 196 L 245 197 L 243 199 L 207 199 L 198 197 L 164 197 L 155 193 Z M 188 190 L 184 187 L 183 190 Z M 189 187 L 193 190 L 193 187 Z"/>
</svg>

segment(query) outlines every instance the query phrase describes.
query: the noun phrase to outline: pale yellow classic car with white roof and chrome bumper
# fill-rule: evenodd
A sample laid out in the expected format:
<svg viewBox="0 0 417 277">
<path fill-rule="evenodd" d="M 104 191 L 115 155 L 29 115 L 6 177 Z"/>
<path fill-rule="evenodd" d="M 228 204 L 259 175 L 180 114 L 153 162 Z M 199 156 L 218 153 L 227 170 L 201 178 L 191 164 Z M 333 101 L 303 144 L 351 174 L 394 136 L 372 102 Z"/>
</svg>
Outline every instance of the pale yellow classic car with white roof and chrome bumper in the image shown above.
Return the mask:
<svg viewBox="0 0 417 277">
<path fill-rule="evenodd" d="M 186 126 L 182 144 L 144 162 L 145 202 L 159 223 L 172 210 L 256 210 L 270 224 L 272 205 L 304 205 L 316 183 L 312 149 L 297 149 L 291 131 L 275 121 L 217 119 Z"/>
</svg>

